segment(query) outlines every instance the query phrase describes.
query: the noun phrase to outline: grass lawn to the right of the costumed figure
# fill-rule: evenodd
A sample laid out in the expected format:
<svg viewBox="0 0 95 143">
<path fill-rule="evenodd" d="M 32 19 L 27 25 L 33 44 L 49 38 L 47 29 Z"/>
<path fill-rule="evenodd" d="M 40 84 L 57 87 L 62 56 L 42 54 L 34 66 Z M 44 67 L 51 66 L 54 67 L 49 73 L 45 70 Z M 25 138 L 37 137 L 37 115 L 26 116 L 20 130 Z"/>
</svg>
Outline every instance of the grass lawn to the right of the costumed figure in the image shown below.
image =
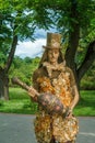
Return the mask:
<svg viewBox="0 0 95 143">
<path fill-rule="evenodd" d="M 95 117 L 95 90 L 81 91 L 81 98 L 74 113 L 76 116 Z"/>
</svg>

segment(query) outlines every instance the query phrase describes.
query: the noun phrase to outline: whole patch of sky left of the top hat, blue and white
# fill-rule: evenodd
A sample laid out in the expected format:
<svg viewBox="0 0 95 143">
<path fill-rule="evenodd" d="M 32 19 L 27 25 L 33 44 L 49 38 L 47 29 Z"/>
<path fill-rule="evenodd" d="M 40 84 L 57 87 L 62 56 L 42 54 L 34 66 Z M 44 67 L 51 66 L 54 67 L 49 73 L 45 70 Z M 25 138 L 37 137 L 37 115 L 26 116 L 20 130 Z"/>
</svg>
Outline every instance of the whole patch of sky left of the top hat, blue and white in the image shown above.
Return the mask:
<svg viewBox="0 0 95 143">
<path fill-rule="evenodd" d="M 35 42 L 19 42 L 15 51 L 15 55 L 21 58 L 31 57 L 35 58 L 36 56 L 40 57 L 44 53 L 43 45 L 46 45 L 47 32 L 56 32 L 56 30 L 44 31 L 37 30 L 35 33 Z"/>
</svg>

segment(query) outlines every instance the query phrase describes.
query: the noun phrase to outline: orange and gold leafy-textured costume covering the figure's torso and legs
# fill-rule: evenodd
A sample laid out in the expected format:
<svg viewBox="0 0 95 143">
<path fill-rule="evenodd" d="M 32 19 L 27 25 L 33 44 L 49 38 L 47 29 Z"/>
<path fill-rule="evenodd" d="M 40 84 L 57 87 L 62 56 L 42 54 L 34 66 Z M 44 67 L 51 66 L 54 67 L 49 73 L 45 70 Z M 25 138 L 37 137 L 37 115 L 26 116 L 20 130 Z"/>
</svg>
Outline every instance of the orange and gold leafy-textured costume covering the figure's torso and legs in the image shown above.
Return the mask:
<svg viewBox="0 0 95 143">
<path fill-rule="evenodd" d="M 39 92 L 50 92 L 57 96 L 63 103 L 69 107 L 74 97 L 73 86 L 74 78 L 71 70 L 63 66 L 58 69 L 48 69 L 45 64 L 34 73 L 34 87 Z M 79 131 L 78 119 L 63 118 L 57 113 L 49 114 L 39 106 L 39 111 L 35 119 L 35 134 L 38 143 L 50 143 L 52 136 L 60 142 L 74 141 Z"/>
</svg>

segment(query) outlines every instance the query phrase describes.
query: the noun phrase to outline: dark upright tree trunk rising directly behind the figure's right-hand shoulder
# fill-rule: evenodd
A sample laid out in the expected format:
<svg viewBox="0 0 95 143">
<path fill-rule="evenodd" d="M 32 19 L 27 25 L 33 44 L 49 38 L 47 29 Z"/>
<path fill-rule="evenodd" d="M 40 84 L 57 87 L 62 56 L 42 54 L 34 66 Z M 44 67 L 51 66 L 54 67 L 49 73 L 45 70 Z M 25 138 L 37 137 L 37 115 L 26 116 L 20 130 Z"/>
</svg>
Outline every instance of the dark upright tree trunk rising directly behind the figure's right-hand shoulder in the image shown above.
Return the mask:
<svg viewBox="0 0 95 143">
<path fill-rule="evenodd" d="M 69 31 L 69 45 L 66 51 L 66 61 L 67 65 L 73 70 L 76 85 L 79 87 L 80 82 L 78 80 L 76 75 L 76 65 L 75 65 L 75 53 L 79 46 L 80 40 L 80 24 L 78 20 L 79 12 L 78 12 L 78 3 L 74 0 L 71 0 L 71 11 L 70 11 L 70 25 L 71 30 Z M 73 21 L 74 20 L 74 21 Z"/>
</svg>

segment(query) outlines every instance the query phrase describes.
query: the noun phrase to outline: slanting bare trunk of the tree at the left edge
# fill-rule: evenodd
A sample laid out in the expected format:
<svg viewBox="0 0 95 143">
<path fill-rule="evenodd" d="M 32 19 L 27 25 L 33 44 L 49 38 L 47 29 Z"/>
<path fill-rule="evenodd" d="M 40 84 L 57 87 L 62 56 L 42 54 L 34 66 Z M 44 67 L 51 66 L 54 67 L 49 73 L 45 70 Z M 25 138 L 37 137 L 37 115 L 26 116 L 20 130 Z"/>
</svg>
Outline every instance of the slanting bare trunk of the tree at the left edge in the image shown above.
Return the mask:
<svg viewBox="0 0 95 143">
<path fill-rule="evenodd" d="M 17 35 L 14 35 L 11 51 L 8 56 L 8 61 L 3 68 L 0 67 L 0 98 L 4 100 L 9 100 L 9 74 L 8 73 L 13 61 L 16 44 L 17 44 Z"/>
</svg>

